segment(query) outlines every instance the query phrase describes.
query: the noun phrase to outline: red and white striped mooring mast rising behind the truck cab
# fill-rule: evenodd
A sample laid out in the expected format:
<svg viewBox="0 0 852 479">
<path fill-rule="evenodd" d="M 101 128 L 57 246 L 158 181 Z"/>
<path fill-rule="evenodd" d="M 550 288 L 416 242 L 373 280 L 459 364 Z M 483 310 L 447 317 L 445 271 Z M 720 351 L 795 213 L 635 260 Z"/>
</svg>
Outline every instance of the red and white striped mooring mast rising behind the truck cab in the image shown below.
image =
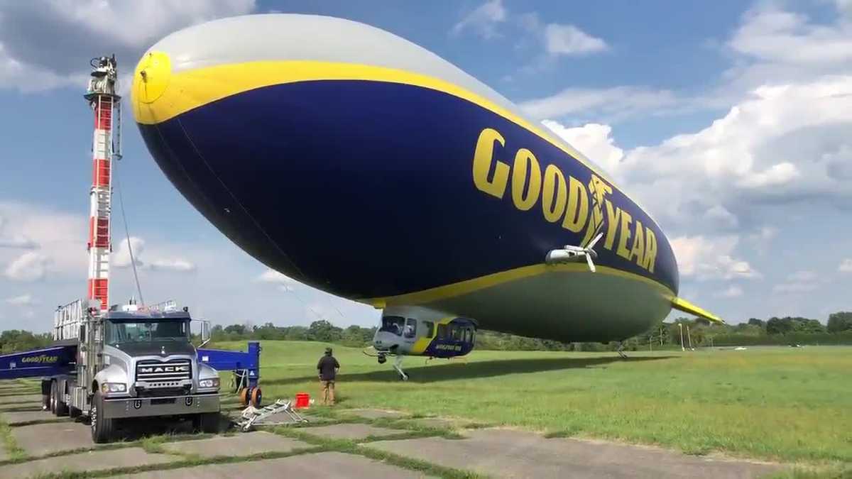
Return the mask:
<svg viewBox="0 0 852 479">
<path fill-rule="evenodd" d="M 92 78 L 83 95 L 95 112 L 92 140 L 92 189 L 89 193 L 89 299 L 109 308 L 110 213 L 112 211 L 112 159 L 121 158 L 121 97 L 116 95 L 118 78 L 115 55 L 93 58 Z M 119 147 L 114 147 L 113 132 Z"/>
</svg>

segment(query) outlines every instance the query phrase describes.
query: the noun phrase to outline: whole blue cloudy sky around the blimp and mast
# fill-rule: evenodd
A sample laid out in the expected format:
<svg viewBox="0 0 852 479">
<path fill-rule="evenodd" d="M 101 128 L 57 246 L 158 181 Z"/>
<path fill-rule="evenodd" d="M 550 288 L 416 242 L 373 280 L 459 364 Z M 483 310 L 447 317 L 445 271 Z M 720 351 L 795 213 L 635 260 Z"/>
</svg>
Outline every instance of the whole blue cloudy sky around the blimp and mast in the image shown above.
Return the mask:
<svg viewBox="0 0 852 479">
<path fill-rule="evenodd" d="M 252 13 L 377 26 L 498 90 L 654 217 L 680 296 L 730 323 L 852 308 L 852 0 L 0 0 L 0 330 L 48 331 L 85 295 L 89 58 L 115 53 L 129 78 L 170 32 Z M 220 324 L 376 324 L 378 310 L 230 243 L 166 180 L 130 110 L 123 143 L 115 174 L 147 303 Z M 117 303 L 135 283 L 113 201 Z"/>
</svg>

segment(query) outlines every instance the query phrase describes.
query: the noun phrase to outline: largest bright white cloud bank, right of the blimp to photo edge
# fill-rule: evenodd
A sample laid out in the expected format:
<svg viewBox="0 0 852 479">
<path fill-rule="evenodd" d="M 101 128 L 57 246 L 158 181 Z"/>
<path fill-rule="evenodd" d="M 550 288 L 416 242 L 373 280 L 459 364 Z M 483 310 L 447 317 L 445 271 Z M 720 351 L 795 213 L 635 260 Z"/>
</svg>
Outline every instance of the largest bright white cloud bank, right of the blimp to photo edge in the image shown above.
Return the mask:
<svg viewBox="0 0 852 479">
<path fill-rule="evenodd" d="M 761 87 L 704 130 L 628 151 L 611 173 L 666 225 L 720 205 L 739 221 L 756 205 L 852 197 L 850 128 L 852 76 Z"/>
</svg>

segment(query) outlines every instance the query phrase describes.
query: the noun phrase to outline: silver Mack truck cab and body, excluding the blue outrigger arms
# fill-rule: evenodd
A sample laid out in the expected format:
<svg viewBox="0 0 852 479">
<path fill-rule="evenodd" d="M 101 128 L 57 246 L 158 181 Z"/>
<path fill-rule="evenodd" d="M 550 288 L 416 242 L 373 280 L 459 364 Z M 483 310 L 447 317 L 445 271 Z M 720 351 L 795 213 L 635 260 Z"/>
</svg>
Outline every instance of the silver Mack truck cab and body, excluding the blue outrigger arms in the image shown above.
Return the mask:
<svg viewBox="0 0 852 479">
<path fill-rule="evenodd" d="M 57 311 L 55 338 L 76 339 L 78 350 L 76 373 L 50 379 L 54 413 L 88 415 L 95 442 L 109 441 L 115 422 L 130 418 L 192 418 L 196 429 L 216 430 L 219 372 L 199 361 L 187 309 L 101 312 L 83 303 Z"/>
</svg>

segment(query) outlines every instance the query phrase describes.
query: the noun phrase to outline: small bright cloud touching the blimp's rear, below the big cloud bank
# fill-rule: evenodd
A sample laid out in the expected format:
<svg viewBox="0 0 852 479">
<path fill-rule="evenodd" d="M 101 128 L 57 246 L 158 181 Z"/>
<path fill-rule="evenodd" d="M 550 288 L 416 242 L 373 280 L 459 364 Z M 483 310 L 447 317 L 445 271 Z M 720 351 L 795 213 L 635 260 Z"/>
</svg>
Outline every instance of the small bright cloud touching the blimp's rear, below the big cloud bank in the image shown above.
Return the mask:
<svg viewBox="0 0 852 479">
<path fill-rule="evenodd" d="M 699 280 L 760 277 L 760 273 L 748 262 L 733 257 L 738 241 L 736 236 L 679 236 L 671 240 L 671 248 L 675 252 L 678 269 L 685 277 Z"/>
</svg>

